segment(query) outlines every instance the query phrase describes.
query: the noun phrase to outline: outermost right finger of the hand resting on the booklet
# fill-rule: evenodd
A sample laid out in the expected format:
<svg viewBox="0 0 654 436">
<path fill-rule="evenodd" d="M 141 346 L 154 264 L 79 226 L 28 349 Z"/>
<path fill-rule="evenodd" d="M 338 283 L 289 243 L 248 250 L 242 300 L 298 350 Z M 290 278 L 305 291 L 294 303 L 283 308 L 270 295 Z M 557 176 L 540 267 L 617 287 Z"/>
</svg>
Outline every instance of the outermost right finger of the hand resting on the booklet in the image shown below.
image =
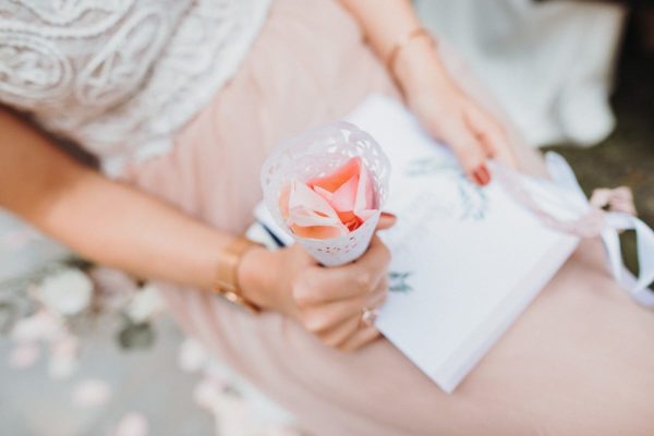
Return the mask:
<svg viewBox="0 0 654 436">
<path fill-rule="evenodd" d="M 469 118 L 471 129 L 477 133 L 486 155 L 514 168 L 517 159 L 511 149 L 506 130 L 493 117 L 480 108 L 472 108 Z"/>
</svg>

